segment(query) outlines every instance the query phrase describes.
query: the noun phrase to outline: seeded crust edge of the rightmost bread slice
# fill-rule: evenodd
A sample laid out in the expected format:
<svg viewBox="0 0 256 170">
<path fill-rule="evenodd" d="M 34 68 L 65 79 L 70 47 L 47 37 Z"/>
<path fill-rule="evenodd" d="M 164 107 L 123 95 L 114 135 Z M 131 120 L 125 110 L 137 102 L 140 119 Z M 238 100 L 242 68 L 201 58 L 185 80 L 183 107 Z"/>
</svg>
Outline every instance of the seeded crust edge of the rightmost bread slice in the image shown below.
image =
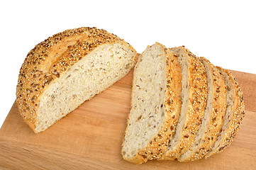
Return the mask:
<svg viewBox="0 0 256 170">
<path fill-rule="evenodd" d="M 224 135 L 224 138 L 221 139 L 221 145 L 217 147 L 216 149 L 211 149 L 208 154 L 206 154 L 205 158 L 211 157 L 211 155 L 216 154 L 218 152 L 222 152 L 223 149 L 228 147 L 231 142 L 233 141 L 235 135 L 237 134 L 238 130 L 240 129 L 240 126 L 242 125 L 242 120 L 245 116 L 245 103 L 243 99 L 243 91 L 240 89 L 240 86 L 238 85 L 238 81 L 236 81 L 235 77 L 228 71 L 228 69 L 223 69 L 221 67 L 217 67 L 220 72 L 225 72 L 230 77 L 230 81 L 233 83 L 234 86 L 234 96 L 235 96 L 235 103 L 234 103 L 234 109 L 233 109 L 233 117 L 230 120 L 230 123 L 228 124 L 228 130 L 226 134 Z"/>
</svg>

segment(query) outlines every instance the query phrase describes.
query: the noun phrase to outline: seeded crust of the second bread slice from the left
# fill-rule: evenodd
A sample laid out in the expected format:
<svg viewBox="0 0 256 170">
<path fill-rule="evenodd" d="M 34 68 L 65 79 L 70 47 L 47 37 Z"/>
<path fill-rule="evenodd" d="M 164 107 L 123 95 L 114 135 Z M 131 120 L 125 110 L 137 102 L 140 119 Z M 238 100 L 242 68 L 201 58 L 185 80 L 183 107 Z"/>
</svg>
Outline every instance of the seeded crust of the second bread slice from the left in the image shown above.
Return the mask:
<svg viewBox="0 0 256 170">
<path fill-rule="evenodd" d="M 189 103 L 186 115 L 186 122 L 182 128 L 182 137 L 177 147 L 168 146 L 167 151 L 160 158 L 161 160 L 178 159 L 189 149 L 194 142 L 196 132 L 199 130 L 207 100 L 207 77 L 204 65 L 185 47 L 174 47 L 171 50 L 174 55 L 177 49 L 187 53 L 189 61 Z M 169 143 L 170 144 L 170 143 Z"/>
</svg>

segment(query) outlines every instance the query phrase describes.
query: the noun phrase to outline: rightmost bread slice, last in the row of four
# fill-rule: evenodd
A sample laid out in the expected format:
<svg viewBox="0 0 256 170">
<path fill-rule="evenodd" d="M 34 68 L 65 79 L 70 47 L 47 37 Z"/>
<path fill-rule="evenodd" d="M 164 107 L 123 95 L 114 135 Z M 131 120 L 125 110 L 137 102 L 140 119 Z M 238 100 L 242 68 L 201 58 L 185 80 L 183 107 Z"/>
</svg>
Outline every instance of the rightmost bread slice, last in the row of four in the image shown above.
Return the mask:
<svg viewBox="0 0 256 170">
<path fill-rule="evenodd" d="M 226 86 L 226 113 L 224 115 L 223 125 L 218 133 L 218 137 L 214 145 L 211 147 L 205 158 L 213 154 L 223 151 L 230 145 L 238 132 L 243 117 L 245 115 L 245 103 L 243 101 L 243 92 L 228 69 L 217 67 L 223 76 Z"/>
</svg>

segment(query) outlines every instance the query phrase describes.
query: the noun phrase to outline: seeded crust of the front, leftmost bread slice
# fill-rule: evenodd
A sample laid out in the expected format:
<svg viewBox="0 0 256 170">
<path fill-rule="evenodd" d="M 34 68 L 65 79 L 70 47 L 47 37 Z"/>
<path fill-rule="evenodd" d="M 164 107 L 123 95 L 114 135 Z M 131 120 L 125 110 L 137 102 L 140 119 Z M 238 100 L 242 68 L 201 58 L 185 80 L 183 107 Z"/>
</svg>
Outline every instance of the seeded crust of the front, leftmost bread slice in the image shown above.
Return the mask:
<svg viewBox="0 0 256 170">
<path fill-rule="evenodd" d="M 177 57 L 173 52 L 167 49 L 164 45 L 156 42 L 162 46 L 166 54 L 166 84 L 167 89 L 165 93 L 165 120 L 160 131 L 152 138 L 148 145 L 140 149 L 132 159 L 126 159 L 133 164 L 142 164 L 152 159 L 159 159 L 165 153 L 169 139 L 174 134 L 174 129 L 179 120 L 179 113 L 181 107 L 181 69 Z M 128 122 L 127 122 L 128 125 Z M 122 153 L 123 154 L 123 153 Z"/>
</svg>

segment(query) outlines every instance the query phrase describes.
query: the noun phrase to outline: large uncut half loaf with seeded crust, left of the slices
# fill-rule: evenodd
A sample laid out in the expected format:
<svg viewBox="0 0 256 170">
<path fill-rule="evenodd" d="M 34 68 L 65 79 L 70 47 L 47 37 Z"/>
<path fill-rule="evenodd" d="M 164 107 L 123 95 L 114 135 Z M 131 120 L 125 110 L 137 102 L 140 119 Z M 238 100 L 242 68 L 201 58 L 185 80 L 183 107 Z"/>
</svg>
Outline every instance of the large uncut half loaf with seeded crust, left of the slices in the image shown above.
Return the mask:
<svg viewBox="0 0 256 170">
<path fill-rule="evenodd" d="M 77 28 L 30 50 L 22 64 L 16 102 L 23 119 L 41 132 L 124 77 L 137 52 L 112 33 Z"/>
</svg>

